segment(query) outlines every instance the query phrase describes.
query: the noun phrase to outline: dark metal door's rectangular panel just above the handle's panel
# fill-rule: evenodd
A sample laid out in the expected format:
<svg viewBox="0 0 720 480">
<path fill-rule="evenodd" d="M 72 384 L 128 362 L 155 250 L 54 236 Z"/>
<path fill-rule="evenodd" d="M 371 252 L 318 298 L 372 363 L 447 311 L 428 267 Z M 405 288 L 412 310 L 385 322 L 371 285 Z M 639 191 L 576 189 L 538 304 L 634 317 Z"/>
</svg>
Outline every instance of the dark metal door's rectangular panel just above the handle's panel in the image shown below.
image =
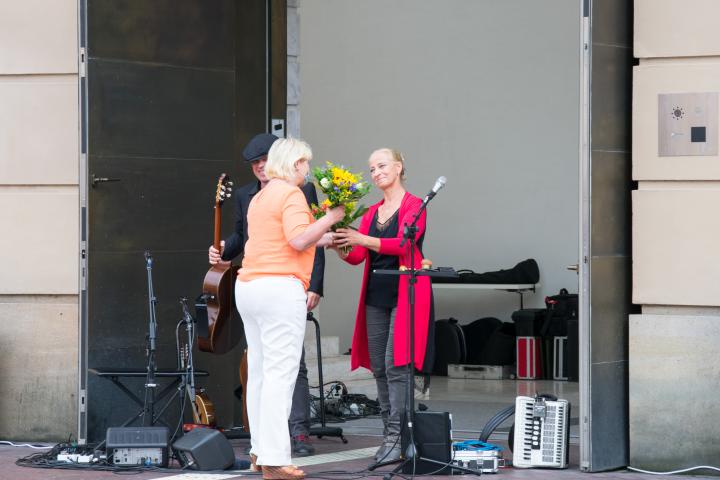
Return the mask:
<svg viewBox="0 0 720 480">
<path fill-rule="evenodd" d="M 235 73 L 93 60 L 90 153 L 233 158 Z"/>
</svg>

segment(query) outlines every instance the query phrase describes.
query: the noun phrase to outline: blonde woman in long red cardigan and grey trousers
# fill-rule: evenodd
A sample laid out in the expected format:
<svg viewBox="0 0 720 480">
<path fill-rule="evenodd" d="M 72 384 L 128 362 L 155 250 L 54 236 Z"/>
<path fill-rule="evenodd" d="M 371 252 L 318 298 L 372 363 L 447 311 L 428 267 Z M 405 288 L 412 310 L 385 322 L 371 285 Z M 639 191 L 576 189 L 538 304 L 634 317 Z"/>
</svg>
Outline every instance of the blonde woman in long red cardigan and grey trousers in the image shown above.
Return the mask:
<svg viewBox="0 0 720 480">
<path fill-rule="evenodd" d="M 372 270 L 410 266 L 410 244 L 401 247 L 403 227 L 411 224 L 422 201 L 403 186 L 404 159 L 388 148 L 370 155 L 370 176 L 383 192 L 383 199 L 370 207 L 360 228 L 338 229 L 334 249 L 352 265 L 365 262 L 365 274 L 352 341 L 351 368 L 365 367 L 377 382 L 378 400 L 385 427 L 376 461 L 400 457 L 400 429 L 407 403 L 407 367 L 410 364 L 410 312 L 408 277 L 375 275 Z M 420 248 L 425 236 L 425 212 L 420 216 L 415 237 L 414 266 L 421 267 Z M 337 247 L 352 247 L 344 255 Z M 432 287 L 429 277 L 418 277 L 415 285 L 415 368 L 432 368 L 428 336 L 432 336 Z"/>
</svg>

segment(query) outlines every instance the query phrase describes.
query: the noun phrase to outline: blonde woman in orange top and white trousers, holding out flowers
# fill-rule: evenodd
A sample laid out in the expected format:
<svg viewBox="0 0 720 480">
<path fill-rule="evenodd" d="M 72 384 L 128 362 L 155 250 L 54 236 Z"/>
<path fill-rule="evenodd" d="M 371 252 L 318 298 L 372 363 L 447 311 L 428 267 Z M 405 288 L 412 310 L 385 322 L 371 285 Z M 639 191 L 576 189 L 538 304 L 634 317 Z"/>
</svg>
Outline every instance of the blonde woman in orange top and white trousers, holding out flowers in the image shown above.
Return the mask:
<svg viewBox="0 0 720 480">
<path fill-rule="evenodd" d="M 332 242 L 330 227 L 344 207 L 314 221 L 299 186 L 312 158 L 310 146 L 279 139 L 268 152 L 270 179 L 248 209 L 248 241 L 235 299 L 248 343 L 247 408 L 251 460 L 265 479 L 300 479 L 290 465 L 288 417 L 305 338 L 307 288 L 316 244 Z"/>
</svg>

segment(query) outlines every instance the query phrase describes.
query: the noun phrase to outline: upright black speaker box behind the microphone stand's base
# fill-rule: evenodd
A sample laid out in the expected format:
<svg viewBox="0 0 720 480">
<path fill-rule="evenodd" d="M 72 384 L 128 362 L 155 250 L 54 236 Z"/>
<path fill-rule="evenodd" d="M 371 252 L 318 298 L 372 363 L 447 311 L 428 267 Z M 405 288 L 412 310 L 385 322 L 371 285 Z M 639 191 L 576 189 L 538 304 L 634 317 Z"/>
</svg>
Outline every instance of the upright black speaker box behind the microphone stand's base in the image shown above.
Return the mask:
<svg viewBox="0 0 720 480">
<path fill-rule="evenodd" d="M 417 455 L 435 460 L 448 466 L 424 461 L 409 461 L 403 465 L 403 473 L 424 475 L 452 475 L 452 440 L 450 430 L 452 421 L 448 412 L 415 412 L 413 435 Z M 410 435 L 407 428 L 402 430 L 402 451 L 407 452 Z"/>
</svg>

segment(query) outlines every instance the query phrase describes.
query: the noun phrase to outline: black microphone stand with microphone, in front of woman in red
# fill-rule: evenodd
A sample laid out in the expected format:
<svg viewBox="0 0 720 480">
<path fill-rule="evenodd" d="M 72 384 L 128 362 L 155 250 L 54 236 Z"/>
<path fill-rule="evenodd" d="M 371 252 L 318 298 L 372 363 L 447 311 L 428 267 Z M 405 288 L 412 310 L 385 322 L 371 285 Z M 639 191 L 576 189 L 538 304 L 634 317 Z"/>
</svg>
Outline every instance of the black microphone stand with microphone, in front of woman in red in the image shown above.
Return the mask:
<svg viewBox="0 0 720 480">
<path fill-rule="evenodd" d="M 432 192 L 428 197 L 422 202 L 422 205 L 420 206 L 420 209 L 415 214 L 415 217 L 413 218 L 413 221 L 410 225 L 405 224 L 403 228 L 403 239 L 400 242 L 400 246 L 404 246 L 405 242 L 410 243 L 410 265 L 407 270 L 405 271 L 399 271 L 399 270 L 374 270 L 374 273 L 380 274 L 380 275 L 408 275 L 410 278 L 408 279 L 408 307 L 410 308 L 410 328 L 407 330 L 408 335 L 410 336 L 409 339 L 409 346 L 410 346 L 410 363 L 407 366 L 407 392 L 406 392 L 406 399 L 405 399 L 405 415 L 407 422 L 405 424 L 405 428 L 407 428 L 408 433 L 408 446 L 405 450 L 405 458 L 400 460 L 393 460 L 389 462 L 378 462 L 373 465 L 370 465 L 368 467 L 368 470 L 372 471 L 376 468 L 383 467 L 386 465 L 391 465 L 397 462 L 400 462 L 399 465 L 397 465 L 391 472 L 388 472 L 383 477 L 384 480 L 390 480 L 395 475 L 400 475 L 400 472 L 403 470 L 405 465 L 412 463 L 413 466 L 417 462 L 427 462 L 432 463 L 438 466 L 440 470 L 444 470 L 445 468 L 451 469 L 451 474 L 453 470 L 458 470 L 461 472 L 466 473 L 472 473 L 475 475 L 480 475 L 480 470 L 473 470 L 470 468 L 465 467 L 459 467 L 456 465 L 452 465 L 452 462 L 450 464 L 440 462 L 438 460 L 432 459 L 432 458 L 426 458 L 423 457 L 421 454 L 418 453 L 418 448 L 415 443 L 415 430 L 414 430 L 414 422 L 415 422 L 415 284 L 417 283 L 417 277 L 457 277 L 457 273 L 455 272 L 438 272 L 438 271 L 426 271 L 426 270 L 417 270 L 415 268 L 415 250 L 417 248 L 417 245 L 415 244 L 415 236 L 418 232 L 417 222 L 420 219 L 420 216 L 423 214 L 423 212 L 427 208 L 427 204 L 430 203 L 430 200 L 435 196 L 436 192 Z M 401 435 L 402 436 L 402 435 Z M 414 474 L 415 468 L 413 467 L 413 474 Z"/>
</svg>

